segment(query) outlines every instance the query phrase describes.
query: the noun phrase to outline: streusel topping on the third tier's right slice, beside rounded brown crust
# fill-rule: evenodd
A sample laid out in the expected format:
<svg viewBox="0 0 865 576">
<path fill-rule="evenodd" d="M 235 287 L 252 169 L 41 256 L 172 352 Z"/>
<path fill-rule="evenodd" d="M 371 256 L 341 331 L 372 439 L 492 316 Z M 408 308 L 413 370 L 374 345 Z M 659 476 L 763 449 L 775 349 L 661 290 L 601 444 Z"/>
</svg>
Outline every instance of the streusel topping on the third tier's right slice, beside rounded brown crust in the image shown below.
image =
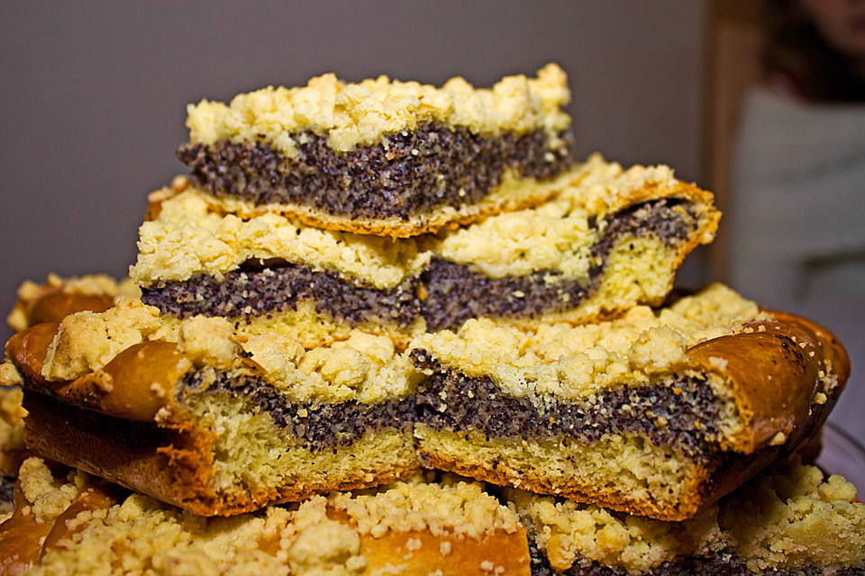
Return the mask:
<svg viewBox="0 0 865 576">
<path fill-rule="evenodd" d="M 657 313 L 637 306 L 618 320 L 541 325 L 534 332 L 469 320 L 458 333 L 415 338 L 411 348 L 426 350 L 469 377 L 490 375 L 517 398 L 575 399 L 616 383 L 648 382 L 650 374 L 683 360 L 687 347 L 733 334 L 743 322 L 761 317 L 754 302 L 715 284 Z"/>
</svg>

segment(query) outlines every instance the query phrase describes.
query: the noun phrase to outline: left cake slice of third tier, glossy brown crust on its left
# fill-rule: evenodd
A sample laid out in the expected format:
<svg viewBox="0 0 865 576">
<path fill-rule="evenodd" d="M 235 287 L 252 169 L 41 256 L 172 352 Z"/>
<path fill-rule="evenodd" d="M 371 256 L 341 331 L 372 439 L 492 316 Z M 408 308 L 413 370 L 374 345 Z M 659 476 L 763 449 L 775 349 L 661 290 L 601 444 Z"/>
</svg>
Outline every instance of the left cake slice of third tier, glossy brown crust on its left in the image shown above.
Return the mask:
<svg viewBox="0 0 865 576">
<path fill-rule="evenodd" d="M 172 325 L 173 326 L 173 325 Z M 305 350 L 236 339 L 222 319 L 178 329 L 125 300 L 9 340 L 38 455 L 202 515 L 230 515 L 414 473 L 410 366 L 384 337 Z"/>
</svg>

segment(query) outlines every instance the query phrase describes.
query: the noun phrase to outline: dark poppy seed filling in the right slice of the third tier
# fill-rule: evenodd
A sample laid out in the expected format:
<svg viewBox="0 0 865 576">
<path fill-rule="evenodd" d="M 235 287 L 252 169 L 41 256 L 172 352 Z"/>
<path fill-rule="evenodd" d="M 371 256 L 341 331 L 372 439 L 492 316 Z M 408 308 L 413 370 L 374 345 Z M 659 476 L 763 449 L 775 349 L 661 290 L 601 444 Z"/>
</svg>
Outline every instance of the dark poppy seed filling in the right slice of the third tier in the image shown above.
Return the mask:
<svg viewBox="0 0 865 576">
<path fill-rule="evenodd" d="M 442 366 L 424 350 L 411 352 L 418 370 L 416 421 L 436 430 L 477 430 L 487 438 L 572 437 L 591 445 L 607 434 L 633 433 L 672 446 L 694 460 L 711 455 L 722 437 L 723 406 L 699 376 L 670 376 L 660 385 L 619 386 L 592 401 L 514 398 L 488 376 L 469 377 Z"/>
</svg>

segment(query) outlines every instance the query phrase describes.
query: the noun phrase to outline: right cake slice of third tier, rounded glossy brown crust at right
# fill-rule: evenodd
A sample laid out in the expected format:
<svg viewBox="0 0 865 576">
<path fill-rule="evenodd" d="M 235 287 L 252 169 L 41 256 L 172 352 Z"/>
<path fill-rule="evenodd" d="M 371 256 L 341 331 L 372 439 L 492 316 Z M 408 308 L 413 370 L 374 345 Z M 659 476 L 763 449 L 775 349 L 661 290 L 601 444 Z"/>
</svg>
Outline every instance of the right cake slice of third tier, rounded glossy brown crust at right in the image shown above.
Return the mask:
<svg viewBox="0 0 865 576">
<path fill-rule="evenodd" d="M 410 355 L 425 465 L 663 520 L 795 450 L 849 373 L 824 329 L 720 285 L 578 328 L 469 321 Z"/>
</svg>

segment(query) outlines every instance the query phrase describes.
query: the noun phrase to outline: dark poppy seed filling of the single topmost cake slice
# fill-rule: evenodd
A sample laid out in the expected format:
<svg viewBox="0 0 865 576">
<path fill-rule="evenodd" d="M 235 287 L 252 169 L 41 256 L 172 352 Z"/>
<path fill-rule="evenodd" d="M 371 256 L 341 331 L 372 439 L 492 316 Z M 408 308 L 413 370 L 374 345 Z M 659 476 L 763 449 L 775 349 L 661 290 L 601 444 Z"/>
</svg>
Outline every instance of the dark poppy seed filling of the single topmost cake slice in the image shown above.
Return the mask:
<svg viewBox="0 0 865 576">
<path fill-rule="evenodd" d="M 351 218 L 408 220 L 442 206 L 478 202 L 505 171 L 551 179 L 574 165 L 570 130 L 494 137 L 426 123 L 375 145 L 337 152 L 326 134 L 292 135 L 298 154 L 267 142 L 186 144 L 178 158 L 215 196 L 255 204 L 301 204 Z"/>
</svg>

